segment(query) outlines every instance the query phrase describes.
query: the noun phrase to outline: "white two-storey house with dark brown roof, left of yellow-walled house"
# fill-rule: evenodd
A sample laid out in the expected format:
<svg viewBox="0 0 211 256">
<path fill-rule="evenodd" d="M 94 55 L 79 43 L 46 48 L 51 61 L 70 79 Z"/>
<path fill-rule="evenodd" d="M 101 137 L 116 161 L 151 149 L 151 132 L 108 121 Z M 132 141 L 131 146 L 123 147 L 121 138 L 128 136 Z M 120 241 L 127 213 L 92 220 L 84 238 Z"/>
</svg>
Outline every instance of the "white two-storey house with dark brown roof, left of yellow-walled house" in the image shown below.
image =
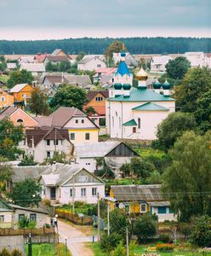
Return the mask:
<svg viewBox="0 0 211 256">
<path fill-rule="evenodd" d="M 26 129 L 25 140 L 20 143 L 20 149 L 24 150 L 25 154 L 31 154 L 38 163 L 52 158 L 54 152 L 65 153 L 69 159 L 72 155 L 68 130 L 53 127 Z"/>
</svg>

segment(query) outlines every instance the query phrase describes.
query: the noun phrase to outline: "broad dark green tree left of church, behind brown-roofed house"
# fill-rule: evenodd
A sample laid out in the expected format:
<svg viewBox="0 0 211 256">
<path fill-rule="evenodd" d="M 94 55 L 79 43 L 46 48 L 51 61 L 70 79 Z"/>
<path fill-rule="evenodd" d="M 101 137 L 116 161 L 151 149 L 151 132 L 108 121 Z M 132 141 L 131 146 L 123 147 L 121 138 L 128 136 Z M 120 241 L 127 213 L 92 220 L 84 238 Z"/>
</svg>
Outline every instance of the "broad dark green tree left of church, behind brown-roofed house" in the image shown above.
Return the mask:
<svg viewBox="0 0 211 256">
<path fill-rule="evenodd" d="M 83 105 L 86 101 L 85 90 L 77 87 L 76 85 L 61 84 L 49 103 L 49 106 L 53 109 L 63 106 L 83 110 Z"/>
</svg>

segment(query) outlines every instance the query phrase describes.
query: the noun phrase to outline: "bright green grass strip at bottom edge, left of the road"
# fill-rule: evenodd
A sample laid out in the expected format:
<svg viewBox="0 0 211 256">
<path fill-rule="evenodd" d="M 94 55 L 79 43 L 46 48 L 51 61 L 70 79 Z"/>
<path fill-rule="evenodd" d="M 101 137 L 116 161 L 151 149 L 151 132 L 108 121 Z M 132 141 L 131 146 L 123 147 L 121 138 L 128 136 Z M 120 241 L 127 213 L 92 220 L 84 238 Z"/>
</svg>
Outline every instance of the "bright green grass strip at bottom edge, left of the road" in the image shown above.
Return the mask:
<svg viewBox="0 0 211 256">
<path fill-rule="evenodd" d="M 58 246 L 58 255 L 66 256 L 66 247 L 63 243 Z M 28 246 L 26 245 L 26 254 L 28 253 Z M 54 243 L 32 244 L 33 256 L 55 256 Z M 71 256 L 70 251 L 67 249 L 67 256 Z"/>
</svg>

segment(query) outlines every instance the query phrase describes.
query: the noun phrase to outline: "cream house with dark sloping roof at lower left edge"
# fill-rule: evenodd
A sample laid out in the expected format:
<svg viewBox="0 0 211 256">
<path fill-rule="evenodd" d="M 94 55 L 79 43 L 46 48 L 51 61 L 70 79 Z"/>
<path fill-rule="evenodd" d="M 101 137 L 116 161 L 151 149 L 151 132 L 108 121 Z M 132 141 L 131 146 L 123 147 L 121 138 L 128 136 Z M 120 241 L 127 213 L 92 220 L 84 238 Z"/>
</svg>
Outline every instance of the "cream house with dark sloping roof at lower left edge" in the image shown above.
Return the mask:
<svg viewBox="0 0 211 256">
<path fill-rule="evenodd" d="M 17 229 L 20 219 L 25 217 L 35 221 L 37 228 L 48 223 L 48 212 L 40 208 L 20 207 L 0 199 L 0 229 Z"/>
</svg>

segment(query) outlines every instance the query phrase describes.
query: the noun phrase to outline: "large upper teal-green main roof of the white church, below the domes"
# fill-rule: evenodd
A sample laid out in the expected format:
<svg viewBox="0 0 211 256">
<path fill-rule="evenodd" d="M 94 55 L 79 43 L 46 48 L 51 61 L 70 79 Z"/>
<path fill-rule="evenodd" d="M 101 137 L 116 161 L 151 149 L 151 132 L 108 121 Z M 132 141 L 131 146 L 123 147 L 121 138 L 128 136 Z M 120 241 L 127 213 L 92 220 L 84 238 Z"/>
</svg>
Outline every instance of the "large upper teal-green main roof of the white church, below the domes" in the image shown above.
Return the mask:
<svg viewBox="0 0 211 256">
<path fill-rule="evenodd" d="M 130 90 L 130 96 L 124 97 L 123 95 L 115 98 L 109 98 L 110 102 L 172 102 L 175 101 L 171 97 L 165 97 L 150 89 L 137 89 L 133 88 Z"/>
</svg>

